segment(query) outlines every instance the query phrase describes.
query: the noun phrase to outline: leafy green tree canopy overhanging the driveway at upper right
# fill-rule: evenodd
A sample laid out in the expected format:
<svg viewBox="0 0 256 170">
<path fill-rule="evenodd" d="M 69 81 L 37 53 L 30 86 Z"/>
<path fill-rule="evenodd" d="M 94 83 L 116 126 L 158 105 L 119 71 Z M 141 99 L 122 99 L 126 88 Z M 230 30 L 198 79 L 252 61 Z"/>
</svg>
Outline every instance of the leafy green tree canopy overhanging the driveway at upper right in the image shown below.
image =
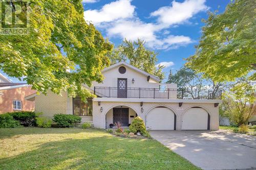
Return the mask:
<svg viewBox="0 0 256 170">
<path fill-rule="evenodd" d="M 224 13 L 209 13 L 203 22 L 196 54 L 186 64 L 217 82 L 235 81 L 247 74 L 255 80 L 255 1 L 231 1 Z"/>
</svg>

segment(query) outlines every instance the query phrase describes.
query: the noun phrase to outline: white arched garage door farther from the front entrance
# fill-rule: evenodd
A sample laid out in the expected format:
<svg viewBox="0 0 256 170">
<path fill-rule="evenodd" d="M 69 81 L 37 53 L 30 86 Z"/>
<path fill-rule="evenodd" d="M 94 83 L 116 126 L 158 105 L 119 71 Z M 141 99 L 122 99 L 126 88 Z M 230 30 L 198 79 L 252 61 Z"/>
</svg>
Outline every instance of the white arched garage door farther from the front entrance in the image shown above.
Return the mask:
<svg viewBox="0 0 256 170">
<path fill-rule="evenodd" d="M 202 108 L 188 109 L 182 118 L 182 130 L 207 130 L 208 113 Z"/>
</svg>

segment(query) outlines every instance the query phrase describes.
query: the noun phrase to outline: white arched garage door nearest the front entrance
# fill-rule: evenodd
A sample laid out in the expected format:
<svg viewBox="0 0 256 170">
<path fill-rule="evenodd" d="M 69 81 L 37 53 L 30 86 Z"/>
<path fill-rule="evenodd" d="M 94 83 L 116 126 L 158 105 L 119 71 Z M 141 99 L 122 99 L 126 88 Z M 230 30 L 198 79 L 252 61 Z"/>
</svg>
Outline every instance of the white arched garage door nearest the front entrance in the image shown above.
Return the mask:
<svg viewBox="0 0 256 170">
<path fill-rule="evenodd" d="M 168 108 L 154 108 L 146 115 L 146 127 L 152 130 L 174 130 L 174 112 Z"/>
</svg>

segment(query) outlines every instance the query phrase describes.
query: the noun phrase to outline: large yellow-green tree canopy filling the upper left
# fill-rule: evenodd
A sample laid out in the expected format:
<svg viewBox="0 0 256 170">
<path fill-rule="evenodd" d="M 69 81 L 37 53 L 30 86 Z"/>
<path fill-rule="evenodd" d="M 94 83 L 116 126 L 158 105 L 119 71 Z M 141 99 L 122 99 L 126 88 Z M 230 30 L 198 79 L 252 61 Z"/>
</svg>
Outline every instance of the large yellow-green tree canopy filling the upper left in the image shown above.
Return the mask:
<svg viewBox="0 0 256 170">
<path fill-rule="evenodd" d="M 43 93 L 67 90 L 86 99 L 82 84 L 102 81 L 112 45 L 84 20 L 81 0 L 35 0 L 22 9 L 30 11 L 30 32 L 0 35 L 0 69 Z"/>
</svg>

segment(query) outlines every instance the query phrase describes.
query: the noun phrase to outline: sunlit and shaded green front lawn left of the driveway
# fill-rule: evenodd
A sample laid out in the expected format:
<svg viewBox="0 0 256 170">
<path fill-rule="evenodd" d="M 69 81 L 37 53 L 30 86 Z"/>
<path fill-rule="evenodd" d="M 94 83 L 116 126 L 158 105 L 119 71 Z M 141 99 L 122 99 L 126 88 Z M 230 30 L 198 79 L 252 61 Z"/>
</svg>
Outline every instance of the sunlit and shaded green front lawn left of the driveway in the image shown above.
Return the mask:
<svg viewBox="0 0 256 170">
<path fill-rule="evenodd" d="M 154 139 L 96 129 L 0 129 L 0 146 L 0 169 L 199 169 Z"/>
</svg>

